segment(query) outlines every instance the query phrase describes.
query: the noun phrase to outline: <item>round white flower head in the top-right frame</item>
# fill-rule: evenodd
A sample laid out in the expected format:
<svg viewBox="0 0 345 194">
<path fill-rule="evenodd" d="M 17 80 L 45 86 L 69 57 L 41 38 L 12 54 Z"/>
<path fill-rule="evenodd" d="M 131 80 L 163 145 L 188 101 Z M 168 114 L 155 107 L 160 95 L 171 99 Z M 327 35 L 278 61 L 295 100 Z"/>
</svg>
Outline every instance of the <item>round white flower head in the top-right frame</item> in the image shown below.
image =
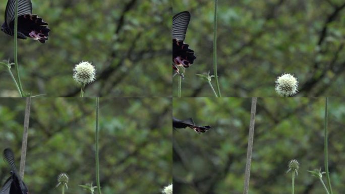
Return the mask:
<svg viewBox="0 0 345 194">
<path fill-rule="evenodd" d="M 298 90 L 297 78 L 291 74 L 282 74 L 275 81 L 275 91 L 281 96 L 295 95 Z"/>
</svg>

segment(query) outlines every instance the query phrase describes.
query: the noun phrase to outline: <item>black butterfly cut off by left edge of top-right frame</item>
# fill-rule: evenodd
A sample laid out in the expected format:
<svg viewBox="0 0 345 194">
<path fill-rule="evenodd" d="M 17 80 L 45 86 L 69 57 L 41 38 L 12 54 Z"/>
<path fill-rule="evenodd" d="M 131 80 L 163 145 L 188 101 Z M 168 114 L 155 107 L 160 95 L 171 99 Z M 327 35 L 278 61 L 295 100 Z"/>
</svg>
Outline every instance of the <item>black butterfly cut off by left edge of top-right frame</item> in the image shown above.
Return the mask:
<svg viewBox="0 0 345 194">
<path fill-rule="evenodd" d="M 178 66 L 188 68 L 196 59 L 194 51 L 184 42 L 190 20 L 191 14 L 187 11 L 172 17 L 172 69 L 178 74 L 180 74 Z"/>
</svg>

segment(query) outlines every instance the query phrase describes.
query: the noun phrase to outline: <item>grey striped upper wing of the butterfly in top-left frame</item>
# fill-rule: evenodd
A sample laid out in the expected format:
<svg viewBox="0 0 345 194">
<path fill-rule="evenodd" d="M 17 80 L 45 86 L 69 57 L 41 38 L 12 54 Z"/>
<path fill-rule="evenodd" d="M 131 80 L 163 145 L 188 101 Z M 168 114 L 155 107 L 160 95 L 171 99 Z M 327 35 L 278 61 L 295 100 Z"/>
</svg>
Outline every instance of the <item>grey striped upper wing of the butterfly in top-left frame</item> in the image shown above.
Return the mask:
<svg viewBox="0 0 345 194">
<path fill-rule="evenodd" d="M 10 26 L 10 23 L 15 19 L 15 9 L 16 0 L 9 0 L 5 11 L 5 22 L 7 26 Z M 18 17 L 25 14 L 32 14 L 31 0 L 18 0 Z"/>
</svg>

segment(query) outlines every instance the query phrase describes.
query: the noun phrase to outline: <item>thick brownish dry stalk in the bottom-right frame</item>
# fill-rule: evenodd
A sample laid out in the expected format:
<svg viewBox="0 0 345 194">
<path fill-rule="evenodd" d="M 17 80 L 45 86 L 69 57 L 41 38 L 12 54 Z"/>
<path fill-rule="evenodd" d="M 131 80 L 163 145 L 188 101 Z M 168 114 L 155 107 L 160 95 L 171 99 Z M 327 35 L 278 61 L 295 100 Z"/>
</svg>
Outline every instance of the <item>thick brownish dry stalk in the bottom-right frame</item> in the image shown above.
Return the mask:
<svg viewBox="0 0 345 194">
<path fill-rule="evenodd" d="M 256 102 L 257 102 L 257 98 L 253 97 L 252 98 L 252 107 L 250 110 L 247 161 L 246 161 L 246 171 L 245 171 L 245 182 L 244 182 L 243 194 L 248 194 L 248 192 L 249 192 L 249 178 L 250 178 L 250 166 L 251 166 L 251 162 L 252 162 L 252 152 L 253 152 Z"/>
</svg>

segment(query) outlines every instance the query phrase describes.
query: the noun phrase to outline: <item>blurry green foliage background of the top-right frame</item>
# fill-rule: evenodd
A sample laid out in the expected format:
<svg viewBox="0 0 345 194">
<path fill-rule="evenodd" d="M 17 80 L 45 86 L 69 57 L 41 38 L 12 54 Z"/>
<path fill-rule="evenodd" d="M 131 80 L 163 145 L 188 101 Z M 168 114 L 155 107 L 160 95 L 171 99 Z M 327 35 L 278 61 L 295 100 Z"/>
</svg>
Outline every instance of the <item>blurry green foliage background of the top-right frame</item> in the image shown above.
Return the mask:
<svg viewBox="0 0 345 194">
<path fill-rule="evenodd" d="M 213 96 L 195 74 L 213 74 L 214 1 L 173 0 L 174 15 L 181 11 L 191 13 L 186 42 L 197 57 L 186 69 L 182 96 Z M 297 96 L 345 96 L 344 23 L 343 0 L 219 0 L 222 96 L 277 96 L 274 84 L 282 73 L 298 78 Z M 177 77 L 173 83 L 177 96 Z"/>
</svg>

